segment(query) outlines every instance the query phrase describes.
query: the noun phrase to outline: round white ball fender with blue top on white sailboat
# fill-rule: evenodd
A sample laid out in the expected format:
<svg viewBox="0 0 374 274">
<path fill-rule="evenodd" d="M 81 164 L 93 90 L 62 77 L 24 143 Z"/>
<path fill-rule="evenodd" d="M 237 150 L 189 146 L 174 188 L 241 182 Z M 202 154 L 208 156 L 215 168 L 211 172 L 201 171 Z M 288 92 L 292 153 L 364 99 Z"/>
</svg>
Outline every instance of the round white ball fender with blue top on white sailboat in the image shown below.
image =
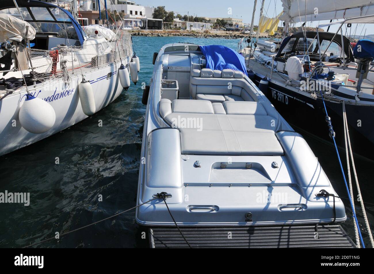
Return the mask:
<svg viewBox="0 0 374 274">
<path fill-rule="evenodd" d="M 46 101 L 28 94 L 19 109 L 18 118 L 19 123 L 25 130 L 40 134 L 53 127 L 56 121 L 56 113 Z"/>
</svg>

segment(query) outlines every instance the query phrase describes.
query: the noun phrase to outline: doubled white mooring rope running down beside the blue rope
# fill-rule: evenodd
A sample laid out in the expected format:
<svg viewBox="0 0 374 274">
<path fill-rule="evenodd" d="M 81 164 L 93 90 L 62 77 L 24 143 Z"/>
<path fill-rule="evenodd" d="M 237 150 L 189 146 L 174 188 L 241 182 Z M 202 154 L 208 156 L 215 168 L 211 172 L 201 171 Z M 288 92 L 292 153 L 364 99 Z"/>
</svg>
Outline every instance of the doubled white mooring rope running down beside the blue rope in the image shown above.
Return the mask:
<svg viewBox="0 0 374 274">
<path fill-rule="evenodd" d="M 349 139 L 349 130 L 348 130 L 346 105 L 345 105 L 344 101 L 343 101 L 343 124 L 344 124 L 344 138 L 345 138 L 345 142 L 346 142 L 347 169 L 348 169 L 348 179 L 349 179 L 350 194 L 351 194 L 352 200 L 354 200 L 353 190 L 352 190 L 352 181 L 351 181 L 351 176 L 350 176 L 350 165 L 349 165 L 348 150 L 350 152 L 350 158 L 351 158 L 351 161 L 352 161 L 353 175 L 355 176 L 355 181 L 356 181 L 356 186 L 357 186 L 357 191 L 358 191 L 358 198 L 360 200 L 361 209 L 362 209 L 362 215 L 364 216 L 365 225 L 366 225 L 366 228 L 368 230 L 371 247 L 373 248 L 374 247 L 373 235 L 371 234 L 371 229 L 370 229 L 368 217 L 366 215 L 364 201 L 362 200 L 361 190 L 360 190 L 360 186 L 358 184 L 358 178 L 357 178 L 357 173 L 356 173 L 355 161 L 353 160 L 353 152 L 352 152 L 352 147 L 351 147 L 351 143 L 350 143 L 350 139 Z M 348 144 L 348 146 L 347 146 L 347 144 Z M 353 208 L 353 210 L 355 210 L 355 209 Z M 355 233 L 356 233 L 356 245 L 358 247 L 360 247 L 360 244 L 359 244 L 360 242 L 359 242 L 359 237 L 358 237 L 358 228 L 356 226 L 356 223 L 355 223 Z"/>
</svg>

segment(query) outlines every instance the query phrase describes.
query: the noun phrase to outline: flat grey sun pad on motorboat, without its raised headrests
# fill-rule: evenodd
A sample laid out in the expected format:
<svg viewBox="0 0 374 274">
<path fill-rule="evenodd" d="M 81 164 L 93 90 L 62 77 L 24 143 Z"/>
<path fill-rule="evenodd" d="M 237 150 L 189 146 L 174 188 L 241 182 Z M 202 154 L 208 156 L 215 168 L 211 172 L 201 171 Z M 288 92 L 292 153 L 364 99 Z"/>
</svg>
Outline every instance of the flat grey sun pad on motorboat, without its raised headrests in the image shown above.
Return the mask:
<svg viewBox="0 0 374 274">
<path fill-rule="evenodd" d="M 171 113 L 165 117 L 170 126 L 181 131 L 183 154 L 283 155 L 270 129 L 271 119 L 270 116 L 196 113 Z"/>
</svg>

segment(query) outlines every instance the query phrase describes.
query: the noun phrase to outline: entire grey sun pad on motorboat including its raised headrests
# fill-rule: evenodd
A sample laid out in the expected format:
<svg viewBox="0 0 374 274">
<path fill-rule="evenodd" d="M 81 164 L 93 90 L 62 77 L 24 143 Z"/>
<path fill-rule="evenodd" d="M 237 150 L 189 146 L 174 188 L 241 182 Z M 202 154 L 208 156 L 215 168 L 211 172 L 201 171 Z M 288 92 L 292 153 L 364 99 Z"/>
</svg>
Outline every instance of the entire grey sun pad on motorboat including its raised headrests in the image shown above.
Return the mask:
<svg viewBox="0 0 374 274">
<path fill-rule="evenodd" d="M 260 103 L 246 103 L 250 103 L 250 110 L 244 110 L 241 104 L 241 111 L 235 112 L 230 104 L 225 109 L 221 103 L 206 100 L 162 99 L 160 115 L 180 130 L 183 154 L 283 155 L 275 136 L 277 121 L 267 115 Z"/>
</svg>

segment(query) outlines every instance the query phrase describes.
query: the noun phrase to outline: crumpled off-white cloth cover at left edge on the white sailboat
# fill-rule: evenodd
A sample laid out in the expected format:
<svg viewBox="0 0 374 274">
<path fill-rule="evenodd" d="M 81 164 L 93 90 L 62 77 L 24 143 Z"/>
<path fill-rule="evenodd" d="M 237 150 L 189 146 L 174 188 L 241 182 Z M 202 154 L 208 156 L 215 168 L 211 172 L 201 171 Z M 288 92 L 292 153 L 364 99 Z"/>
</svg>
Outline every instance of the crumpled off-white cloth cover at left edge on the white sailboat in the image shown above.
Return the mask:
<svg viewBox="0 0 374 274">
<path fill-rule="evenodd" d="M 36 30 L 28 22 L 6 13 L 0 13 L 0 42 L 23 39 L 33 40 Z"/>
</svg>

